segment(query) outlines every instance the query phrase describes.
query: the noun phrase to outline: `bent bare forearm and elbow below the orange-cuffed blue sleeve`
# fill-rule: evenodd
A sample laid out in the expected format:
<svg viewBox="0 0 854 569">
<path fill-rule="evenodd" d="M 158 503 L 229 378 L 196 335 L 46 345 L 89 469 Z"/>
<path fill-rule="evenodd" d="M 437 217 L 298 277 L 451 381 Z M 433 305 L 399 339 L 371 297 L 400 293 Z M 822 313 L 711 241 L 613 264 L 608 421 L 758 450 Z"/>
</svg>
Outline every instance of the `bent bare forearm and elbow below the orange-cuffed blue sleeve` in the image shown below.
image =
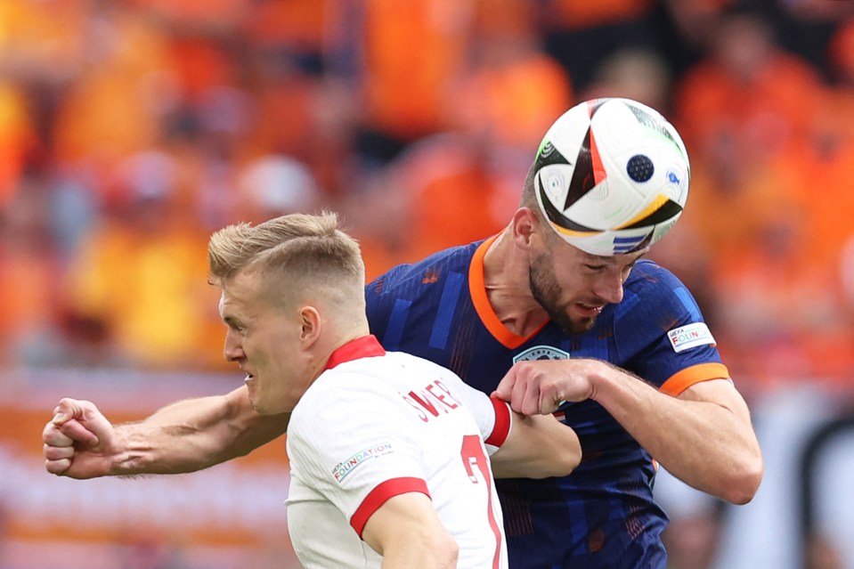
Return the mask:
<svg viewBox="0 0 854 569">
<path fill-rule="evenodd" d="M 749 411 L 732 390 L 724 403 L 672 397 L 603 366 L 593 399 L 673 476 L 734 503 L 752 499 L 762 476 Z"/>
</svg>

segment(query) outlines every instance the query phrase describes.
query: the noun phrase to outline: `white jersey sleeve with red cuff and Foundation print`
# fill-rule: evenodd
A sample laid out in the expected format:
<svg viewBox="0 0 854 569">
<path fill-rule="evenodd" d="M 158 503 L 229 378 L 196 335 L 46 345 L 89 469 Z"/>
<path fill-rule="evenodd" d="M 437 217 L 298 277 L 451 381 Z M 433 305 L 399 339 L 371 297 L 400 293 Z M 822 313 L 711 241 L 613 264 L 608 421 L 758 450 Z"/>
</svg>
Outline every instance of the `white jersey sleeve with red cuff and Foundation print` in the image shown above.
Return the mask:
<svg viewBox="0 0 854 569">
<path fill-rule="evenodd" d="M 288 450 L 305 484 L 334 504 L 361 537 L 386 500 L 429 492 L 410 421 L 359 383 L 309 390 L 291 417 Z"/>
</svg>

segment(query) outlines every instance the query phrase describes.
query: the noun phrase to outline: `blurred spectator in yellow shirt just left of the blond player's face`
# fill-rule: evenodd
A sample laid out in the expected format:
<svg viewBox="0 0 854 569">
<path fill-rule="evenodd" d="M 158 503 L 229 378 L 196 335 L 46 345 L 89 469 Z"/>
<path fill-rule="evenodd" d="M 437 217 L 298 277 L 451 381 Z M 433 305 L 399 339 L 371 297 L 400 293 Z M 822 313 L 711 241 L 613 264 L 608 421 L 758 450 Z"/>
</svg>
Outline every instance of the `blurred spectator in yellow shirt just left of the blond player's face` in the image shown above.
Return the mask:
<svg viewBox="0 0 854 569">
<path fill-rule="evenodd" d="M 128 364 L 221 368 L 209 355 L 222 335 L 216 292 L 205 285 L 206 259 L 198 254 L 207 230 L 175 199 L 175 163 L 167 154 L 146 152 L 129 162 L 125 199 L 85 235 L 68 267 L 67 310 L 101 322 Z"/>
</svg>

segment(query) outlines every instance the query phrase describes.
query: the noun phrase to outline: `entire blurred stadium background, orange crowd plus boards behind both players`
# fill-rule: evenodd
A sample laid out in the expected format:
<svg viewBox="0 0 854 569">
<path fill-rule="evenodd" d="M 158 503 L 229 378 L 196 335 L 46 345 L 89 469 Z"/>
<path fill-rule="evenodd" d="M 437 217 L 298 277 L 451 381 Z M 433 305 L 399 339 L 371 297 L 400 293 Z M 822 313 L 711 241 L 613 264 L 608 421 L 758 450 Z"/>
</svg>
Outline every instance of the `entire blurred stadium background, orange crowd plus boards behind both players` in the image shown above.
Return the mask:
<svg viewBox="0 0 854 569">
<path fill-rule="evenodd" d="M 500 231 L 546 128 L 600 95 L 685 138 L 653 256 L 766 454 L 743 508 L 662 477 L 671 565 L 854 567 L 848 0 L 3 0 L 0 567 L 297 566 L 281 441 L 80 483 L 43 469 L 53 405 L 131 420 L 240 385 L 209 232 L 331 207 L 377 275 Z"/>
</svg>

